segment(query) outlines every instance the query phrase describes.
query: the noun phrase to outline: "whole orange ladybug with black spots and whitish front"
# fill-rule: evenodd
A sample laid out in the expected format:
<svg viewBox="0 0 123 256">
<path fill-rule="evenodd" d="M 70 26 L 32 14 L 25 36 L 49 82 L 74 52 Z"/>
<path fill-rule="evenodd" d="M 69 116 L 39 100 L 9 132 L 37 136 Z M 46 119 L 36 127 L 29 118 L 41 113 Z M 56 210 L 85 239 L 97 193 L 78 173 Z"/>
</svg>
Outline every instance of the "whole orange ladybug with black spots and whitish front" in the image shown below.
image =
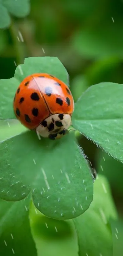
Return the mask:
<svg viewBox="0 0 123 256">
<path fill-rule="evenodd" d="M 53 75 L 36 73 L 20 83 L 13 108 L 24 126 L 54 140 L 66 134 L 71 125 L 74 100 L 64 82 Z"/>
</svg>

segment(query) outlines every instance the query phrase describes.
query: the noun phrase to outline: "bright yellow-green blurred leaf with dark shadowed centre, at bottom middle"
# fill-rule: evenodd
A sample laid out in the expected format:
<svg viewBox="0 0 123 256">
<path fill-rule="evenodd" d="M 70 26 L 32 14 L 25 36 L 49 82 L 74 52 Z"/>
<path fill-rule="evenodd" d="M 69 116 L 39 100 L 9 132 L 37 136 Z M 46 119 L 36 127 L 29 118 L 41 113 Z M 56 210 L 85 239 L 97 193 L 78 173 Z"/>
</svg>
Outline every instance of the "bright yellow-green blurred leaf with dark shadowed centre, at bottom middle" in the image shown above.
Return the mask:
<svg viewBox="0 0 123 256">
<path fill-rule="evenodd" d="M 78 240 L 72 220 L 48 218 L 33 204 L 29 218 L 38 256 L 78 256 Z"/>
</svg>

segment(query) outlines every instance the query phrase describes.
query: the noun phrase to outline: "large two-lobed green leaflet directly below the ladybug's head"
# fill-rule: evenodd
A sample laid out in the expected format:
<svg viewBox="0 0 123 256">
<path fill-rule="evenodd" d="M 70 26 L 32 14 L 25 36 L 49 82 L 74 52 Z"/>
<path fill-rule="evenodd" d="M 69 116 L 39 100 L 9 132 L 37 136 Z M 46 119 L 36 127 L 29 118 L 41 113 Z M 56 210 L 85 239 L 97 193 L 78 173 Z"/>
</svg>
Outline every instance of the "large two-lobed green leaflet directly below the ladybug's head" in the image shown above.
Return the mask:
<svg viewBox="0 0 123 256">
<path fill-rule="evenodd" d="M 55 219 L 75 218 L 92 202 L 92 175 L 73 133 L 56 141 L 22 133 L 3 141 L 0 155 L 2 199 L 20 200 L 33 189 L 35 206 Z"/>
</svg>

